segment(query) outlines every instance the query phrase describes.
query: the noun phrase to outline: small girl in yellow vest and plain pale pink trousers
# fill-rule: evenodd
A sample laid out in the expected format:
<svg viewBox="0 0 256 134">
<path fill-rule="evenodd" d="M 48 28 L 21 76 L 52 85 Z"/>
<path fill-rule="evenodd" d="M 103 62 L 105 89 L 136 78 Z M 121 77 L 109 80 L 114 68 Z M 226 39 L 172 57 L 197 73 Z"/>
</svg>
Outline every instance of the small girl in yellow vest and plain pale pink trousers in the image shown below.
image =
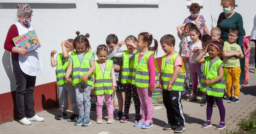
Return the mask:
<svg viewBox="0 0 256 134">
<path fill-rule="evenodd" d="M 102 123 L 102 106 L 104 98 L 108 109 L 107 123 L 113 123 L 114 106 L 112 95 L 116 88 L 113 60 L 107 60 L 108 47 L 106 45 L 99 45 L 97 47 L 96 55 L 99 59 L 95 61 L 96 69 L 94 71 L 94 82 L 92 87 L 92 90 L 96 95 L 96 123 Z"/>
</svg>

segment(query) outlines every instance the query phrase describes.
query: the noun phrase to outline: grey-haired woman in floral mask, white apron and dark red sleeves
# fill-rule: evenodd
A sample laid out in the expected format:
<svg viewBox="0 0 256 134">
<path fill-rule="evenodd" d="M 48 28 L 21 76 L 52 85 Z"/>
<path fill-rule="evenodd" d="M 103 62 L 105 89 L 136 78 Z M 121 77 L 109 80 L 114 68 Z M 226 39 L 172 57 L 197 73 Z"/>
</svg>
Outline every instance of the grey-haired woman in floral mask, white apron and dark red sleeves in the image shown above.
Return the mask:
<svg viewBox="0 0 256 134">
<path fill-rule="evenodd" d="M 35 115 L 33 94 L 36 76 L 40 75 L 42 70 L 42 62 L 38 50 L 28 51 L 27 46 L 21 48 L 14 45 L 14 37 L 33 30 L 33 26 L 30 24 L 33 10 L 28 4 L 19 4 L 16 7 L 19 20 L 10 27 L 5 39 L 4 49 L 11 52 L 11 65 L 17 85 L 16 103 L 19 122 L 23 125 L 30 125 L 30 121 L 44 121 L 44 118 Z M 27 117 L 24 97 L 27 106 Z"/>
</svg>

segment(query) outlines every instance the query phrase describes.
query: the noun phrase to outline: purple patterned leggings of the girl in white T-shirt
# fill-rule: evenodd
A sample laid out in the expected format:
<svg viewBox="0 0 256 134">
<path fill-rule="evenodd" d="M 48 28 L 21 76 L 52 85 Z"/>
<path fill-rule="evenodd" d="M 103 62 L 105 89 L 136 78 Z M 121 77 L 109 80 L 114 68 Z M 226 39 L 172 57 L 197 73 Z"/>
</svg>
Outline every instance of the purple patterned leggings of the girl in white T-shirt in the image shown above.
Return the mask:
<svg viewBox="0 0 256 134">
<path fill-rule="evenodd" d="M 201 83 L 200 74 L 201 74 L 201 63 L 190 63 L 190 76 L 192 78 L 192 93 L 196 95 L 197 90 L 197 80 Z"/>
</svg>

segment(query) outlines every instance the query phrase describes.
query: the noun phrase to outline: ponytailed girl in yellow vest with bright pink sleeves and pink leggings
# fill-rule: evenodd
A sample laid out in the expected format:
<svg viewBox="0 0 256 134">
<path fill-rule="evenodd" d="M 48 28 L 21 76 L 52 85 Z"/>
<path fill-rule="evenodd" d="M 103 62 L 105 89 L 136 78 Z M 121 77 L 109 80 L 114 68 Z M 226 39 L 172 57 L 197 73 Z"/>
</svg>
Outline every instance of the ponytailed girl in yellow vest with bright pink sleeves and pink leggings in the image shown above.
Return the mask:
<svg viewBox="0 0 256 134">
<path fill-rule="evenodd" d="M 154 47 L 149 47 L 152 44 L 153 40 L 154 40 Z M 137 46 L 141 50 L 138 51 L 140 53 L 136 53 L 134 55 L 133 59 L 135 57 L 138 58 L 138 59 L 134 59 L 134 60 L 138 60 L 138 66 L 141 66 L 143 64 L 147 64 L 147 66 L 148 66 L 147 69 L 148 69 L 148 72 L 149 72 L 149 76 L 150 76 L 149 79 L 150 80 L 148 81 L 149 83 L 147 83 L 147 84 L 149 84 L 149 87 L 148 88 L 142 88 L 142 87 L 140 87 L 141 84 L 136 85 L 137 83 L 140 83 L 140 82 L 136 82 L 137 81 L 136 79 L 139 79 L 140 77 L 135 76 L 135 86 L 137 87 L 138 95 L 139 95 L 139 98 L 140 98 L 141 110 L 142 110 L 142 119 L 139 120 L 139 122 L 135 123 L 134 126 L 135 127 L 140 127 L 141 126 L 141 128 L 150 128 L 150 127 L 153 127 L 153 120 L 152 120 L 153 106 L 152 106 L 151 97 L 152 97 L 152 91 L 154 91 L 156 89 L 156 87 L 155 87 L 155 84 L 156 84 L 155 76 L 157 76 L 156 73 L 158 72 L 157 62 L 156 62 L 156 59 L 153 55 L 155 55 L 155 53 L 157 53 L 158 43 L 157 43 L 157 40 L 154 39 L 153 36 L 150 33 L 145 32 L 145 33 L 140 33 L 138 35 L 138 45 Z M 132 47 L 137 48 L 134 45 Z M 154 54 L 152 54 L 150 51 L 153 51 Z M 148 55 L 148 53 L 151 53 L 151 55 L 147 58 L 144 55 L 145 54 Z M 138 75 L 137 74 L 137 69 L 136 69 L 136 75 Z M 144 75 L 144 74 L 142 74 L 142 75 Z M 145 81 L 147 81 L 147 80 L 145 80 Z"/>
</svg>

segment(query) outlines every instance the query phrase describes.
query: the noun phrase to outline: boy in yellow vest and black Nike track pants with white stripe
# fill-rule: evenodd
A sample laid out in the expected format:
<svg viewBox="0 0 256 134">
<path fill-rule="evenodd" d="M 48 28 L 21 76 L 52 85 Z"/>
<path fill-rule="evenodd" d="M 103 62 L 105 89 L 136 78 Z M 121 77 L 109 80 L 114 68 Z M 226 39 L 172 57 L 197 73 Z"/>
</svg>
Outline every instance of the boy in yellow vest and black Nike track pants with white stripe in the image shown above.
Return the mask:
<svg viewBox="0 0 256 134">
<path fill-rule="evenodd" d="M 181 104 L 181 91 L 185 81 L 185 67 L 182 58 L 175 51 L 175 38 L 168 34 L 160 39 L 162 49 L 166 53 L 162 57 L 162 68 L 159 87 L 163 89 L 163 102 L 167 112 L 168 125 L 165 130 L 175 129 L 181 133 L 185 130 L 185 117 Z"/>
</svg>

